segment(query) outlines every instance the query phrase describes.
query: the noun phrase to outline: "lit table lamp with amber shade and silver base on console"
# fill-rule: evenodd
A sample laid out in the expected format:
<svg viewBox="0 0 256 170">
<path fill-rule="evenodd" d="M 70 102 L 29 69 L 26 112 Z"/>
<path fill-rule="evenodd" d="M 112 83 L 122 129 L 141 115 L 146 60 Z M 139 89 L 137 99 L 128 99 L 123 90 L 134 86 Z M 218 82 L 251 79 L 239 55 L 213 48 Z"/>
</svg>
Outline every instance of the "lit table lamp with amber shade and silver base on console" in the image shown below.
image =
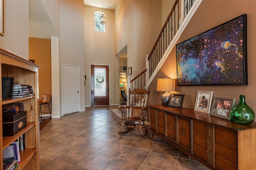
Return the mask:
<svg viewBox="0 0 256 170">
<path fill-rule="evenodd" d="M 167 106 L 170 97 L 170 91 L 174 91 L 173 79 L 171 78 L 158 78 L 157 79 L 157 91 L 165 92 L 161 96 L 161 101 L 164 106 Z"/>
</svg>

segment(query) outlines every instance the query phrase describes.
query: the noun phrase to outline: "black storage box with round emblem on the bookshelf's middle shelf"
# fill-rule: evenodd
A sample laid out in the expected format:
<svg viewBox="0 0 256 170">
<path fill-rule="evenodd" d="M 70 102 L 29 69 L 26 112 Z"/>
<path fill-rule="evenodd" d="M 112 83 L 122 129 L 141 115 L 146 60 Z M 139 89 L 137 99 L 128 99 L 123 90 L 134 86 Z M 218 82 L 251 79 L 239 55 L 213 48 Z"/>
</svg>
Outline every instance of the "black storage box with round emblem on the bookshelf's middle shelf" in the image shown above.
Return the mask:
<svg viewBox="0 0 256 170">
<path fill-rule="evenodd" d="M 27 111 L 3 113 L 3 136 L 13 136 L 27 127 Z"/>
</svg>

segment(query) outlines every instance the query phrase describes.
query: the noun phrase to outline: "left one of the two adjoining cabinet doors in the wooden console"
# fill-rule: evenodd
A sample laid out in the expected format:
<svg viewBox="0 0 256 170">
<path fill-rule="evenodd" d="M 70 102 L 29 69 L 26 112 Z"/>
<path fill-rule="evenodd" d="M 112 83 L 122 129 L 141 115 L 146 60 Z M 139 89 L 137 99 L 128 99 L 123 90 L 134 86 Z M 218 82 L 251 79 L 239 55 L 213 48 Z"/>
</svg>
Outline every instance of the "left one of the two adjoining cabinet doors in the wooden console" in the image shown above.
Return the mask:
<svg viewBox="0 0 256 170">
<path fill-rule="evenodd" d="M 176 143 L 176 122 L 174 115 L 166 114 L 166 138 Z"/>
</svg>

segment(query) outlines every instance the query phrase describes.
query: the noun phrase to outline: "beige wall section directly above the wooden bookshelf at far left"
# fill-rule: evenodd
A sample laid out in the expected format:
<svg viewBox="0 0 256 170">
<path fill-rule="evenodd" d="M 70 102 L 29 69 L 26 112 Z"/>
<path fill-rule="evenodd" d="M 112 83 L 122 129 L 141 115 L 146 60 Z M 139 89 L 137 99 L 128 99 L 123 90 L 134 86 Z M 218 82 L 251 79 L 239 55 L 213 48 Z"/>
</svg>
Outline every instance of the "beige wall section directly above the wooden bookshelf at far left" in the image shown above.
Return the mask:
<svg viewBox="0 0 256 170">
<path fill-rule="evenodd" d="M 0 36 L 0 47 L 28 59 L 28 1 L 4 1 L 4 36 Z"/>
</svg>

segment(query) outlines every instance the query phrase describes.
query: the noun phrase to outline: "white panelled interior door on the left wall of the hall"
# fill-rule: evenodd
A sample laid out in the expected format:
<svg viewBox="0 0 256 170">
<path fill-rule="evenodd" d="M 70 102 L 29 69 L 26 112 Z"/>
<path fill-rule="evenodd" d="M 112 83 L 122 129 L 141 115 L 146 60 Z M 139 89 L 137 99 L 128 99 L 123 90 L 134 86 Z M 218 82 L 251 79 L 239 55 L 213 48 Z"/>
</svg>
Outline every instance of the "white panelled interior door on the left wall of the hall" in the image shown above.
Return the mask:
<svg viewBox="0 0 256 170">
<path fill-rule="evenodd" d="M 79 111 L 80 71 L 79 66 L 63 65 L 62 115 Z"/>
</svg>

